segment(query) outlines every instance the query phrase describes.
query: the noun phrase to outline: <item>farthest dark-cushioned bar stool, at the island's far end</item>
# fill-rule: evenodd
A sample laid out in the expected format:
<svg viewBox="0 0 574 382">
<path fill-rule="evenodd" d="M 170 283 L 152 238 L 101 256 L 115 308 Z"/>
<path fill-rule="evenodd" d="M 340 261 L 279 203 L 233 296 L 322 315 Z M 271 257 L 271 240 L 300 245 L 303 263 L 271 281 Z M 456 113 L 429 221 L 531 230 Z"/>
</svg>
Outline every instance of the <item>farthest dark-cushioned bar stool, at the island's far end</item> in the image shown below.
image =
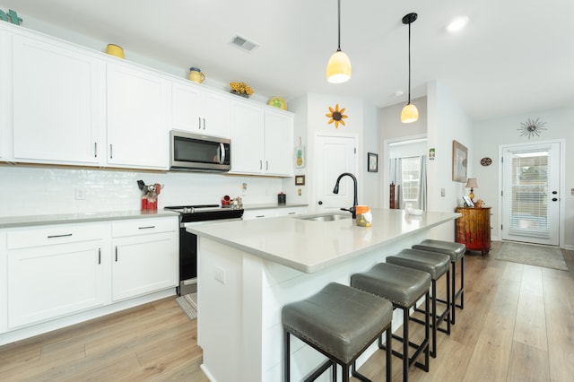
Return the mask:
<svg viewBox="0 0 574 382">
<path fill-rule="evenodd" d="M 413 249 L 421 249 L 423 251 L 439 252 L 444 255 L 450 256 L 450 273 L 452 276 L 452 287 L 450 298 L 452 302 L 452 312 L 450 321 L 452 325 L 455 325 L 456 308 L 461 310 L 465 308 L 465 252 L 466 246 L 461 243 L 453 243 L 450 241 L 443 240 L 433 240 L 426 239 L 422 240 L 421 244 L 415 244 Z M 460 260 L 460 289 L 457 291 L 457 261 Z M 460 304 L 457 304 L 457 300 L 460 298 Z M 440 302 L 445 302 L 444 300 L 439 300 Z"/>
</svg>

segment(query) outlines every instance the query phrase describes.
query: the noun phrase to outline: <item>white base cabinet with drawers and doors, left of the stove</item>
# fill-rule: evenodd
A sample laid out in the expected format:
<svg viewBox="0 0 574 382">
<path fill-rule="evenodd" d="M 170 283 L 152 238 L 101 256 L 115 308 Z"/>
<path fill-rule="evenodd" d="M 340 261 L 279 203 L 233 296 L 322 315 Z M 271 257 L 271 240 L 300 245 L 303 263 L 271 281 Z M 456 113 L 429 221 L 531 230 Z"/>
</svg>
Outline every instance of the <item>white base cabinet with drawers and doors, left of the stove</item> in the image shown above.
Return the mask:
<svg viewBox="0 0 574 382">
<path fill-rule="evenodd" d="M 4 292 L 0 287 L 0 311 L 7 312 L 0 319 L 4 331 L 178 285 L 177 216 L 1 233 L 0 243 L 5 244 L 0 247 L 0 270 L 5 265 L 2 275 L 7 280 Z"/>
</svg>

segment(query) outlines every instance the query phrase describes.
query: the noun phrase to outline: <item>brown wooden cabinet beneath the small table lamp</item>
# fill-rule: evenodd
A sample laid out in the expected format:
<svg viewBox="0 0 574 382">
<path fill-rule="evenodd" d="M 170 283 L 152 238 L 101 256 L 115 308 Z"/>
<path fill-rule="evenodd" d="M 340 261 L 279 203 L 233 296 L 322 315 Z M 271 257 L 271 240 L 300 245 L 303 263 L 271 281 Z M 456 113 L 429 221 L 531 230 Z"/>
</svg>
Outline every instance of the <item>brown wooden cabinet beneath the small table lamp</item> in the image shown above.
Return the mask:
<svg viewBox="0 0 574 382">
<path fill-rule="evenodd" d="M 457 207 L 462 216 L 456 221 L 455 240 L 466 249 L 488 255 L 491 250 L 491 207 Z"/>
</svg>

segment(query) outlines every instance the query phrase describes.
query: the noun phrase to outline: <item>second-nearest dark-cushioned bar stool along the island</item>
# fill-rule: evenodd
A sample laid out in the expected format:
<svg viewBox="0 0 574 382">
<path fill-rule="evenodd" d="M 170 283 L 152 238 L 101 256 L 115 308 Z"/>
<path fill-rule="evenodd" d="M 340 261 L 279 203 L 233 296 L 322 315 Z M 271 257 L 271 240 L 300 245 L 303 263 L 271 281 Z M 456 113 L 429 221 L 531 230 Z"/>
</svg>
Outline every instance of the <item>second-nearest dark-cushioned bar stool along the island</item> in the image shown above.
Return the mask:
<svg viewBox="0 0 574 382">
<path fill-rule="evenodd" d="M 393 334 L 393 338 L 403 343 L 403 352 L 392 351 L 393 355 L 403 360 L 403 380 L 408 380 L 408 371 L 415 365 L 424 371 L 429 371 L 429 288 L 431 288 L 431 275 L 404 266 L 379 263 L 364 273 L 351 275 L 351 286 L 362 291 L 376 294 L 393 303 L 393 308 L 403 310 L 403 336 Z M 416 302 L 425 296 L 425 332 L 420 344 L 409 341 L 409 311 Z M 387 339 L 385 345 L 379 340 L 378 347 L 387 352 L 392 343 Z M 413 356 L 409 356 L 409 348 L 413 347 Z M 424 363 L 417 359 L 424 353 Z M 387 361 L 388 362 L 388 361 Z"/>
</svg>

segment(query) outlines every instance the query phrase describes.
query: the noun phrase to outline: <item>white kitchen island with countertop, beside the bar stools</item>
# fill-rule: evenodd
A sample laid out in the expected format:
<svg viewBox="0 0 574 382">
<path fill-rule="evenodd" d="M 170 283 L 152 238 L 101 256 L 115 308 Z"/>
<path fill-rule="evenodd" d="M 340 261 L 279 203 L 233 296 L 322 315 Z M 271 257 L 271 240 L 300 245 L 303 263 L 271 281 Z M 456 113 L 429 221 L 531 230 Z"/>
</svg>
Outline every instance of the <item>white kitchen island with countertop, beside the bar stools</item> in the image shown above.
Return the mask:
<svg viewBox="0 0 574 382">
<path fill-rule="evenodd" d="M 307 216 L 229 221 L 187 228 L 198 235 L 197 343 L 202 369 L 214 381 L 279 381 L 283 368 L 281 308 L 302 300 L 328 282 L 349 284 L 405 247 L 429 237 L 429 230 L 458 213 L 405 215 L 372 210 L 369 228 L 347 218 Z M 454 224 L 453 224 L 454 231 Z M 393 317 L 393 330 L 402 325 Z M 357 361 L 360 366 L 376 344 Z M 291 339 L 291 378 L 299 380 L 323 357 Z"/>
</svg>

